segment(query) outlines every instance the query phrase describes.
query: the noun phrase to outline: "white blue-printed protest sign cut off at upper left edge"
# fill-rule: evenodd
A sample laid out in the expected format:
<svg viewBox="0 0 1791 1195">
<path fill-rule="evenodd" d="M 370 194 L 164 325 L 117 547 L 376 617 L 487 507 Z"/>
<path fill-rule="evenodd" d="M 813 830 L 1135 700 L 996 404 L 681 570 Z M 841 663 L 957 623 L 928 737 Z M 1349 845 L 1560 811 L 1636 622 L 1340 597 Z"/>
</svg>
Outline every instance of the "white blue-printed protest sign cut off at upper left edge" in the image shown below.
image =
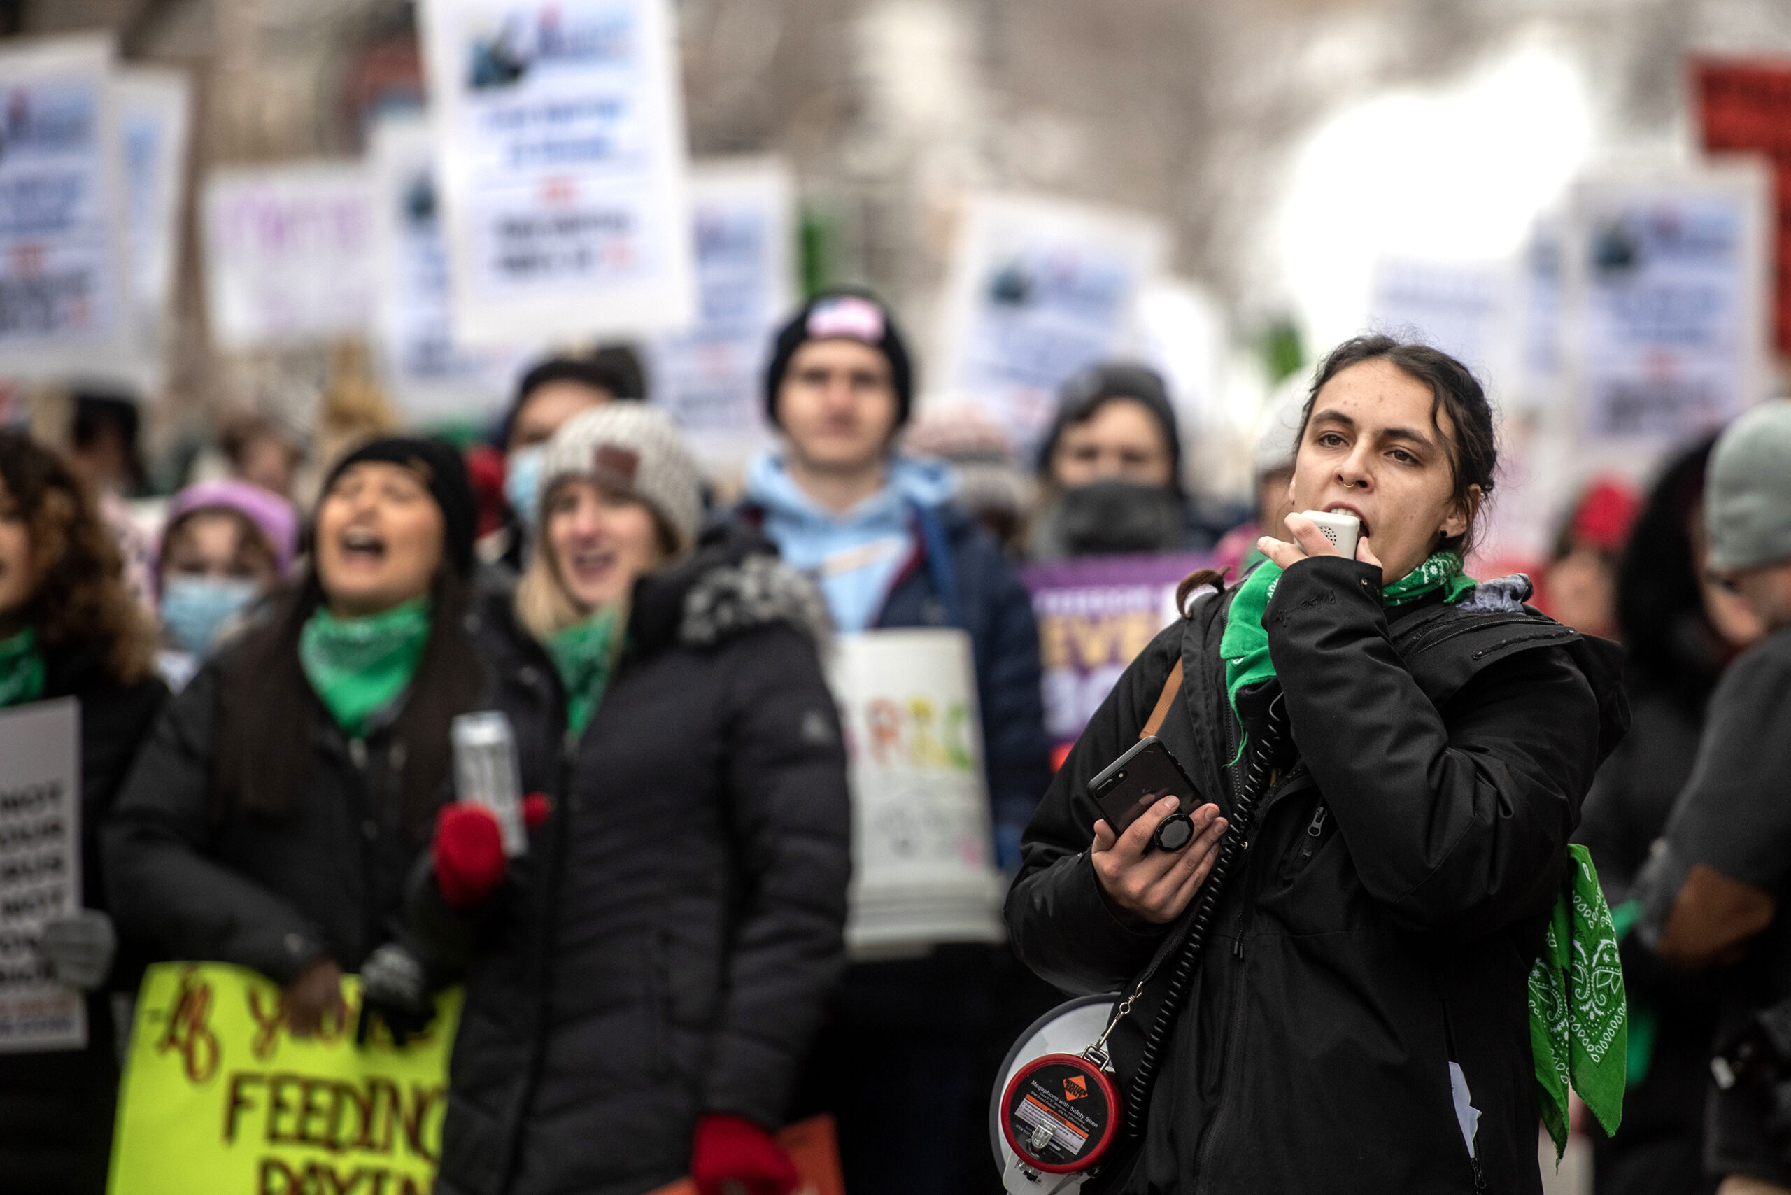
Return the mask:
<svg viewBox="0 0 1791 1195">
<path fill-rule="evenodd" d="M 129 367 L 131 285 L 100 38 L 0 52 L 0 373 Z"/>
</svg>

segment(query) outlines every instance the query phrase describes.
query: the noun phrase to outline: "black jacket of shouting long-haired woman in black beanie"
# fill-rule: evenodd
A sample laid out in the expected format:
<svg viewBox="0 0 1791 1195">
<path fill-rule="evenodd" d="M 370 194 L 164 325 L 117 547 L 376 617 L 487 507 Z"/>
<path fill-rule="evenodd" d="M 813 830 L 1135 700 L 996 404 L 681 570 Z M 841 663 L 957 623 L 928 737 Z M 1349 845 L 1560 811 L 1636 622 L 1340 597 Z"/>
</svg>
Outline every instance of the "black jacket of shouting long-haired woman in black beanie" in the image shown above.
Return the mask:
<svg viewBox="0 0 1791 1195">
<path fill-rule="evenodd" d="M 313 765 L 288 817 L 222 808 L 219 693 L 245 645 L 199 670 L 138 756 L 104 831 L 113 916 L 163 957 L 235 962 L 281 985 L 319 959 L 358 971 L 398 933 L 405 881 L 428 846 L 426 826 L 401 817 L 396 702 L 362 738 L 319 702 Z"/>
</svg>

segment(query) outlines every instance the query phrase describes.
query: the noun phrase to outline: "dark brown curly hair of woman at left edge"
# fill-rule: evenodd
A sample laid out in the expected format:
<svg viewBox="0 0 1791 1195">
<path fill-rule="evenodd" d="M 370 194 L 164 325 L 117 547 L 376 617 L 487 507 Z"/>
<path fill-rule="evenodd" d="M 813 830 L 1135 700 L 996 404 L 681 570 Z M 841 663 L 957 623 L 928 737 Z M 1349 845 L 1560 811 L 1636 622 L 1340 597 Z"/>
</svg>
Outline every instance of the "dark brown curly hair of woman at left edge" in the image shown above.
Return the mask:
<svg viewBox="0 0 1791 1195">
<path fill-rule="evenodd" d="M 91 643 L 120 684 L 156 661 L 156 629 L 124 586 L 124 561 L 68 466 L 29 435 L 0 430 L 0 518 L 23 520 L 38 584 L 25 616 L 47 649 Z"/>
</svg>

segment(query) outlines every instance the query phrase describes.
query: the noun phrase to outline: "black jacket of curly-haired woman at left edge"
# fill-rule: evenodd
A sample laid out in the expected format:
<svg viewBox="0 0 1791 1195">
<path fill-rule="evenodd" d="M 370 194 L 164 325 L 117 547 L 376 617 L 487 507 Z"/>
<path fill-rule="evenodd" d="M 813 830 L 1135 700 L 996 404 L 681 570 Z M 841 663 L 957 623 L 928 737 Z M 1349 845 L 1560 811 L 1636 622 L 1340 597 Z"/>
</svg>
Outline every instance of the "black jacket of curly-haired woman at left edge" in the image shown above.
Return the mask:
<svg viewBox="0 0 1791 1195">
<path fill-rule="evenodd" d="M 45 654 L 43 695 L 81 699 L 81 903 L 106 908 L 99 828 L 138 745 L 168 699 L 154 675 L 118 684 L 93 649 Z M 113 987 L 138 967 L 120 957 Z M 86 1050 L 0 1053 L 0 1191 L 106 1190 L 118 1055 L 104 991 L 88 998 Z"/>
</svg>

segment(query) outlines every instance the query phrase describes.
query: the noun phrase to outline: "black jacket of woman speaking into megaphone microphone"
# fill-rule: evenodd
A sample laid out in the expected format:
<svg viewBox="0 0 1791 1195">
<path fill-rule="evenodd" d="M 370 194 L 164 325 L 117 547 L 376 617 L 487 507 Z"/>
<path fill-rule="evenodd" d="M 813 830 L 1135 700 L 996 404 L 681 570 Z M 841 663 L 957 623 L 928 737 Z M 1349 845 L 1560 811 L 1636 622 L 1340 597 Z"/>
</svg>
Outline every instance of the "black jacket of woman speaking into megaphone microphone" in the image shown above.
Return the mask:
<svg viewBox="0 0 1791 1195">
<path fill-rule="evenodd" d="M 1028 830 L 1008 926 L 1064 989 L 1130 991 L 1164 939 L 1098 890 L 1087 783 L 1135 742 L 1177 658 L 1159 736 L 1230 808 L 1230 597 L 1198 600 L 1132 663 Z M 1333 557 L 1290 568 L 1264 625 L 1298 756 L 1229 876 L 1143 1148 L 1094 1190 L 1467 1193 L 1478 1165 L 1485 1190 L 1537 1193 L 1526 980 L 1580 801 L 1626 724 L 1617 649 L 1499 584 L 1390 623 L 1379 570 Z M 1114 1034 L 1121 1079 L 1166 975 Z M 1481 1111 L 1478 1163 L 1451 1061 Z"/>
</svg>

